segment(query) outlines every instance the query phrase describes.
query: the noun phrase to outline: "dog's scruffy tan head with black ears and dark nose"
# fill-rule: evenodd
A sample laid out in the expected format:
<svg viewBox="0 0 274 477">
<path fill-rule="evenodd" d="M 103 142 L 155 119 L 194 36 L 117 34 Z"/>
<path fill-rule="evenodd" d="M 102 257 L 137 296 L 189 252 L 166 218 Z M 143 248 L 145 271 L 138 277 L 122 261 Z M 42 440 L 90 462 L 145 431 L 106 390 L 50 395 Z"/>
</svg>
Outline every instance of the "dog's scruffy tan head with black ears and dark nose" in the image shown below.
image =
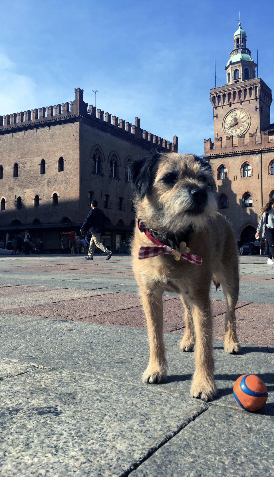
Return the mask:
<svg viewBox="0 0 274 477">
<path fill-rule="evenodd" d="M 177 233 L 202 229 L 216 213 L 211 166 L 193 155 L 155 153 L 131 166 L 135 207 L 148 227 Z"/>
</svg>

